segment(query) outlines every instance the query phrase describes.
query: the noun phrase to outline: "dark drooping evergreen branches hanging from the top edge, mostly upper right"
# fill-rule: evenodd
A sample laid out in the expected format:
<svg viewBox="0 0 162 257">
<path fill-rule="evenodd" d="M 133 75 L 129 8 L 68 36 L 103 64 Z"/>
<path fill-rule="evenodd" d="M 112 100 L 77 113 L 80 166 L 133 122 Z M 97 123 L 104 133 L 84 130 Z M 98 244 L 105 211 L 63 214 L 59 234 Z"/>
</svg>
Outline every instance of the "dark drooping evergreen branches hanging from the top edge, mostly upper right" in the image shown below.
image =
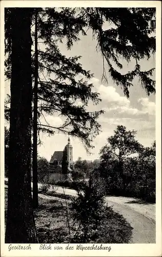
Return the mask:
<svg viewBox="0 0 162 257">
<path fill-rule="evenodd" d="M 125 95 L 129 97 L 129 87 L 133 86 L 135 76 L 149 95 L 155 93 L 155 81 L 150 78 L 154 69 L 142 71 L 139 61 L 149 59 L 155 52 L 155 15 L 155 8 L 38 8 L 39 38 L 48 46 L 52 41 L 62 42 L 66 38 L 67 47 L 71 49 L 79 40 L 79 33 L 86 35 L 87 28 L 91 28 L 112 79 L 123 88 Z M 106 30 L 103 28 L 105 22 L 109 24 Z M 6 38 L 10 40 L 8 33 Z M 120 73 L 123 69 L 121 59 L 128 63 L 135 60 L 134 69 L 127 74 Z M 10 54 L 6 60 L 6 76 L 11 77 L 9 64 Z M 106 78 L 105 68 L 103 76 Z"/>
</svg>

